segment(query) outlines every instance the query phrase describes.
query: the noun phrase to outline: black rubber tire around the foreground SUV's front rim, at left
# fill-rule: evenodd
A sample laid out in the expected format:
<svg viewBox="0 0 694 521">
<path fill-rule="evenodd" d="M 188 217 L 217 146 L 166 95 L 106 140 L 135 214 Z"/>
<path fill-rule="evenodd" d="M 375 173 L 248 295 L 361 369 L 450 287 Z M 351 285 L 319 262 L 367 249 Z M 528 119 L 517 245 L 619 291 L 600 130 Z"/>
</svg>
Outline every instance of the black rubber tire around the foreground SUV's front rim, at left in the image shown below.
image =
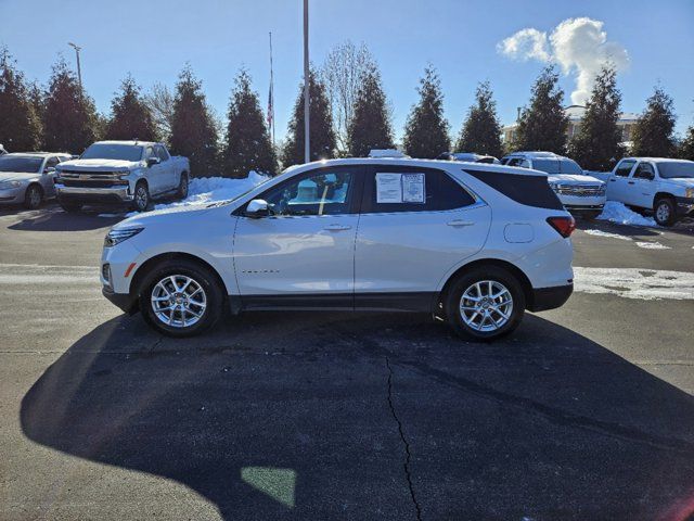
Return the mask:
<svg viewBox="0 0 694 521">
<path fill-rule="evenodd" d="M 181 310 L 171 312 L 170 316 L 174 317 L 174 322 L 178 321 L 179 323 L 169 325 L 166 323 L 162 318 L 159 318 L 159 316 L 157 316 L 157 313 L 153 308 L 153 292 L 156 295 L 157 293 L 155 291 L 155 288 L 157 288 L 157 284 L 160 281 L 164 281 L 168 277 L 175 277 L 175 280 L 180 285 L 184 283 L 183 278 L 189 278 L 193 281 L 189 284 L 189 288 L 194 288 L 193 284 L 197 284 L 197 287 L 203 290 L 205 308 L 201 312 L 200 307 L 195 307 L 194 305 L 191 307 L 191 309 L 193 309 L 194 312 L 200 312 L 202 314 L 197 321 L 195 321 L 192 326 L 184 326 L 184 322 L 180 323 L 181 317 L 183 316 L 183 313 Z M 185 291 L 190 292 L 190 290 L 184 290 L 184 292 Z M 188 298 L 185 300 L 188 301 Z M 219 317 L 222 314 L 224 295 L 217 277 L 215 277 L 215 275 L 210 272 L 208 268 L 192 260 L 179 259 L 166 260 L 157 265 L 144 277 L 142 283 L 140 284 L 139 301 L 140 312 L 142 313 L 144 320 L 152 328 L 154 328 L 159 333 L 166 334 L 168 336 L 184 338 L 200 334 L 217 323 Z M 167 313 L 165 312 L 164 315 L 167 315 Z M 178 320 L 176 318 L 177 315 Z M 185 314 L 185 316 L 190 317 L 188 313 Z"/>
</svg>

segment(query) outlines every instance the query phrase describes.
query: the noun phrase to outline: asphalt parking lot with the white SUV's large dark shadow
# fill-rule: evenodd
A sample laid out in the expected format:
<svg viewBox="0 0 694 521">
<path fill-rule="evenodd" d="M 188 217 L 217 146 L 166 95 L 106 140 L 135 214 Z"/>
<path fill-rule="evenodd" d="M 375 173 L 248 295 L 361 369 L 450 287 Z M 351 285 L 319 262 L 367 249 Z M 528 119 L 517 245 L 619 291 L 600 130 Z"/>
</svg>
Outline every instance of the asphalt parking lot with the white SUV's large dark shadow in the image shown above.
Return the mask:
<svg viewBox="0 0 694 521">
<path fill-rule="evenodd" d="M 691 519 L 693 225 L 580 224 L 583 289 L 472 344 L 398 314 L 159 336 L 101 296 L 118 219 L 0 212 L 0 519 Z"/>
</svg>

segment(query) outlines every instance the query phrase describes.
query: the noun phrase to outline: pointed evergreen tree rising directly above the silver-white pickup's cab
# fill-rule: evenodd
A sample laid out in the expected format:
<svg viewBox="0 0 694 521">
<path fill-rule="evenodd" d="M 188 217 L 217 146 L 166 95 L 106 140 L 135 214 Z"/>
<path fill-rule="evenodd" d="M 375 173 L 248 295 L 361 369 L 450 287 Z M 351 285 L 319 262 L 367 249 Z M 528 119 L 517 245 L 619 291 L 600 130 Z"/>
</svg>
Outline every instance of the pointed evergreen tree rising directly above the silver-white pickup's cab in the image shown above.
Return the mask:
<svg viewBox="0 0 694 521">
<path fill-rule="evenodd" d="M 111 112 L 105 132 L 107 139 L 156 140 L 152 112 L 132 76 L 128 75 L 120 84 L 120 91 L 111 102 Z"/>
</svg>

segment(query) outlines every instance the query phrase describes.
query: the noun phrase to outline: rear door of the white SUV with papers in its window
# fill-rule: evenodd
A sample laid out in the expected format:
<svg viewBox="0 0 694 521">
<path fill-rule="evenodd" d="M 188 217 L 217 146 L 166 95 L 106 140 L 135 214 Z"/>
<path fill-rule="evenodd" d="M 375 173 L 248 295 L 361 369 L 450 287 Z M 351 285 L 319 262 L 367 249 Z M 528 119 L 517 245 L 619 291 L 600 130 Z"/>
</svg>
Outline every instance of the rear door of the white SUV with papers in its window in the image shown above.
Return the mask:
<svg viewBox="0 0 694 521">
<path fill-rule="evenodd" d="M 430 309 L 442 277 L 484 245 L 490 219 L 490 207 L 445 170 L 370 167 L 355 247 L 355 306 Z"/>
</svg>

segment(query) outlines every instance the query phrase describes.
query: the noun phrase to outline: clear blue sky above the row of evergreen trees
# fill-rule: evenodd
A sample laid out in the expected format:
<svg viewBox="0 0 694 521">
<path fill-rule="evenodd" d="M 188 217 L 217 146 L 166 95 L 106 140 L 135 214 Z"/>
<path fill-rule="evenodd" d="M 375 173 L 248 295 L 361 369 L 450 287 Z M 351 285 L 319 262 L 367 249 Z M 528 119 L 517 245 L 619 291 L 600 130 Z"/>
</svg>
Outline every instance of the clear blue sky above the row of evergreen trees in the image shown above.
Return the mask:
<svg viewBox="0 0 694 521">
<path fill-rule="evenodd" d="M 659 82 L 673 97 L 677 130 L 694 122 L 694 1 L 519 1 L 519 0 L 311 0 L 311 61 L 320 65 L 331 47 L 365 42 L 383 73 L 398 138 L 417 79 L 427 62 L 439 71 L 451 134 L 458 135 L 477 81 L 491 81 L 502 123 L 512 123 L 527 103 L 543 64 L 512 60 L 498 43 L 524 28 L 550 35 L 571 17 L 603 22 L 611 42 L 626 49 L 619 74 L 622 110 L 641 112 Z M 145 89 L 174 86 L 188 61 L 203 80 L 219 115 L 227 110 L 239 67 L 250 72 L 267 105 L 268 31 L 274 43 L 278 138 L 301 79 L 301 0 L 0 0 L 0 45 L 7 45 L 30 79 L 46 82 L 62 52 L 74 64 L 75 41 L 83 48 L 85 87 L 107 112 L 111 98 L 130 72 Z M 575 74 L 562 77 L 569 94 Z"/>
</svg>

